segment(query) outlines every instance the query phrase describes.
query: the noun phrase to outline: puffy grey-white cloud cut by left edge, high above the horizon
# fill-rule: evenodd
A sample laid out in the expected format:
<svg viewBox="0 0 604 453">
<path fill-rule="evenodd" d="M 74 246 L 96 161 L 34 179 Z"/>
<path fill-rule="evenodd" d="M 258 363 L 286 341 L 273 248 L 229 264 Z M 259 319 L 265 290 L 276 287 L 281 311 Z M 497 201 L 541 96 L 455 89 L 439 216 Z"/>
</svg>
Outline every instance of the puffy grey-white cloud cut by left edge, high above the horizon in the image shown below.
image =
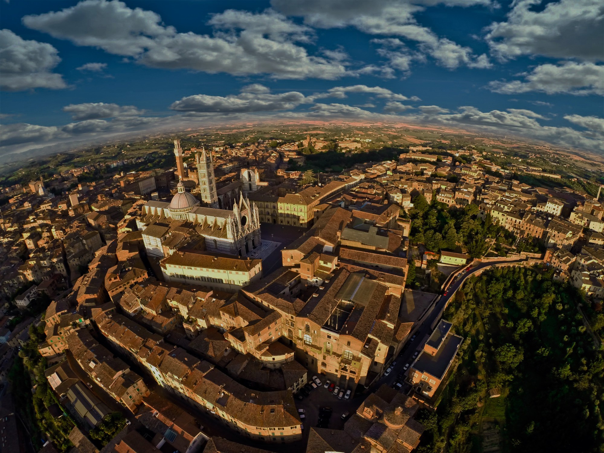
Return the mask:
<svg viewBox="0 0 604 453">
<path fill-rule="evenodd" d="M 63 76 L 52 72 L 61 61 L 58 54 L 48 43 L 25 40 L 10 30 L 0 30 L 0 89 L 66 88 Z"/>
</svg>

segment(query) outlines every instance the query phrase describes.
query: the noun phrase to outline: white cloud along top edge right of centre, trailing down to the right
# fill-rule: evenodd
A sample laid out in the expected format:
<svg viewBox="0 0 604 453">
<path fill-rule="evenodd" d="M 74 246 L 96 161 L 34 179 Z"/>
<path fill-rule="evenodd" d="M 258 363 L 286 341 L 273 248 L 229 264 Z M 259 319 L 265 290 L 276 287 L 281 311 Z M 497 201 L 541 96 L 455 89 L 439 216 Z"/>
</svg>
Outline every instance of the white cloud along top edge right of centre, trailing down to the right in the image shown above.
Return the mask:
<svg viewBox="0 0 604 453">
<path fill-rule="evenodd" d="M 490 5 L 490 1 L 413 1 L 413 0 L 272 0 L 272 6 L 288 16 L 301 16 L 304 23 L 316 28 L 355 27 L 367 34 L 400 36 L 417 43 L 419 50 L 433 57 L 439 65 L 448 69 L 466 65 L 470 68 L 488 68 L 486 55 L 476 56 L 471 48 L 463 47 L 447 38 L 438 37 L 432 30 L 419 25 L 414 14 L 425 6 L 445 4 L 449 6 Z M 393 61 L 396 68 L 408 71 L 410 54 L 382 51 Z"/>
</svg>

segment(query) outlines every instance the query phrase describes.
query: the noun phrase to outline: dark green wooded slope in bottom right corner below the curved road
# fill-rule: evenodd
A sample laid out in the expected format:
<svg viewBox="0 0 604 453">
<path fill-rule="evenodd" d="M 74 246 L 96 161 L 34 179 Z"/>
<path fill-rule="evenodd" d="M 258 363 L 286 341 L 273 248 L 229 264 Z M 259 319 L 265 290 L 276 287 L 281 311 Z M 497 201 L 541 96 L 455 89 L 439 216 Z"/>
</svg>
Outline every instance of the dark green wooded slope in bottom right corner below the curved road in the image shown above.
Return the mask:
<svg viewBox="0 0 604 453">
<path fill-rule="evenodd" d="M 577 310 L 578 303 L 585 310 L 593 304 L 551 277 L 541 267 L 497 268 L 457 292 L 443 318 L 466 341 L 437 426 L 422 418 L 419 451 L 480 451 L 471 432 L 481 417 L 493 416 L 486 406 L 501 407 L 502 451 L 604 451 L 604 359 Z M 501 392 L 496 402 L 487 394 L 493 388 Z"/>
</svg>

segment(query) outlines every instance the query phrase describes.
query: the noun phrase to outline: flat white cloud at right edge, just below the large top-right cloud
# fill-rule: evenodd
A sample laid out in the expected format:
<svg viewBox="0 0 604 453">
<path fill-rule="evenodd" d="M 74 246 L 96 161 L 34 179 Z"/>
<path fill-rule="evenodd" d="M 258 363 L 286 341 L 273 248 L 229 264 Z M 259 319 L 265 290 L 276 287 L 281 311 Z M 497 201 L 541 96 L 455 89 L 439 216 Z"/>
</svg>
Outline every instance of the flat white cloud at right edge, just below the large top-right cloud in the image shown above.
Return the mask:
<svg viewBox="0 0 604 453">
<path fill-rule="evenodd" d="M 539 65 L 532 72 L 521 74 L 525 81 L 496 80 L 489 83 L 491 91 L 502 94 L 541 91 L 547 94 L 604 95 L 604 65 L 564 62 L 562 65 Z"/>
</svg>

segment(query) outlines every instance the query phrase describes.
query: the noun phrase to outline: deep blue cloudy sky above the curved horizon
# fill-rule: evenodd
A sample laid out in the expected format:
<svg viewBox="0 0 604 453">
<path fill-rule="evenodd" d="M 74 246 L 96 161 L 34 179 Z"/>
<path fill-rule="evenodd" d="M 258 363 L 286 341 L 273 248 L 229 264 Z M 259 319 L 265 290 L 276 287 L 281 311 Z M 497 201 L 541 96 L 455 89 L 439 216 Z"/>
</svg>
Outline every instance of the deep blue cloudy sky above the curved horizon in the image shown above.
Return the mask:
<svg viewBox="0 0 604 453">
<path fill-rule="evenodd" d="M 271 116 L 604 152 L 604 2 L 3 1 L 0 88 L 0 153 Z"/>
</svg>

